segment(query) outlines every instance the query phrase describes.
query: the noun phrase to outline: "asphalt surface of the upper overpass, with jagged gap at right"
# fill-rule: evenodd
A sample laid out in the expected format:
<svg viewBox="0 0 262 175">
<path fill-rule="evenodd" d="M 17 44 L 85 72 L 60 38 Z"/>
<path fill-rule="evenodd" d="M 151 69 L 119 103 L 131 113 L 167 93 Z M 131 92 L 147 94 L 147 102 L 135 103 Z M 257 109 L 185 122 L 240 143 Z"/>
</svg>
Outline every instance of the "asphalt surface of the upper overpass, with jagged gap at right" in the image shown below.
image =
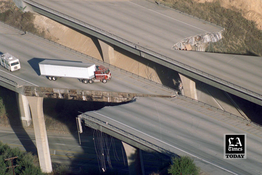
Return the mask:
<svg viewBox="0 0 262 175">
<path fill-rule="evenodd" d="M 221 30 L 145 0 L 35 0 L 137 45 L 262 94 L 262 58 L 172 50 L 182 39 Z"/>
</svg>

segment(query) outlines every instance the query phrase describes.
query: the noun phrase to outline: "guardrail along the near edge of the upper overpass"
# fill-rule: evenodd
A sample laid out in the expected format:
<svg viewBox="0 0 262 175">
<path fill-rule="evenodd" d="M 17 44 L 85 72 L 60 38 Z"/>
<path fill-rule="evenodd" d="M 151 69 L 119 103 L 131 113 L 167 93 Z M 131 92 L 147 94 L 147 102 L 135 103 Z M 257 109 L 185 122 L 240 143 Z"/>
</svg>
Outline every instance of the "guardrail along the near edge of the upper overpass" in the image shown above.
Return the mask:
<svg viewBox="0 0 262 175">
<path fill-rule="evenodd" d="M 204 72 L 204 71 L 201 71 L 200 69 L 194 68 L 194 67 L 189 66 L 189 65 L 187 65 L 187 64 L 184 64 L 184 63 L 182 63 L 182 62 L 180 62 L 180 61 L 177 61 L 177 60 L 174 60 L 174 59 L 169 58 L 169 57 L 167 57 L 167 56 L 164 56 L 164 55 L 162 55 L 162 54 L 160 54 L 160 53 L 157 53 L 157 52 L 155 52 L 155 51 L 153 51 L 153 50 L 150 50 L 150 49 L 147 49 L 147 48 L 145 48 L 145 47 L 139 46 L 139 45 L 137 45 L 137 44 L 135 44 L 135 43 L 133 43 L 133 42 L 130 42 L 130 41 L 128 41 L 128 40 L 126 40 L 126 39 L 124 39 L 124 38 L 122 38 L 122 37 L 116 36 L 116 35 L 114 35 L 114 34 L 112 34 L 112 33 L 109 33 L 109 32 L 107 32 L 107 31 L 103 30 L 103 29 L 100 29 L 100 28 L 98 28 L 98 27 L 95 27 L 95 26 L 93 26 L 93 25 L 91 25 L 91 24 L 88 24 L 88 23 L 86 23 L 86 22 L 83 22 L 83 21 L 81 21 L 81 20 L 78 20 L 78 19 L 76 19 L 76 18 L 74 18 L 74 17 L 71 17 L 71 16 L 66 15 L 66 14 L 64 14 L 64 13 L 61 13 L 61 12 L 59 12 L 59 11 L 56 11 L 56 10 L 54 10 L 54 9 L 52 9 L 52 8 L 49 8 L 49 7 L 47 7 L 47 6 L 44 6 L 44 5 L 42 5 L 42 4 L 39 4 L 39 3 L 34 2 L 34 1 L 32 1 L 32 0 L 23 0 L 23 1 L 24 1 L 24 2 L 27 2 L 27 3 L 31 4 L 31 5 L 34 4 L 34 5 L 38 6 L 38 8 L 44 8 L 44 9 L 46 9 L 47 11 L 52 12 L 53 14 L 56 14 L 57 16 L 64 17 L 65 19 L 68 19 L 69 21 L 72 21 L 72 22 L 74 22 L 74 23 L 76 23 L 76 24 L 79 24 L 79 25 L 84 26 L 84 27 L 87 27 L 87 28 L 89 28 L 89 29 L 91 29 L 91 30 L 93 30 L 93 31 L 95 31 L 95 32 L 98 32 L 98 33 L 100 33 L 100 34 L 102 34 L 102 35 L 104 35 L 104 36 L 107 36 L 107 37 L 109 37 L 109 38 L 112 38 L 112 39 L 114 39 L 114 40 L 117 40 L 117 41 L 119 41 L 119 42 L 122 42 L 123 44 L 128 45 L 128 46 L 130 46 L 130 47 L 133 47 L 133 48 L 135 48 L 135 49 L 137 49 L 137 50 L 139 50 L 139 51 L 141 51 L 141 52 L 147 53 L 147 54 L 152 55 L 152 56 L 154 56 L 154 57 L 156 57 L 156 58 L 166 59 L 166 60 L 169 61 L 169 63 L 174 64 L 174 65 L 176 65 L 176 66 L 178 66 L 178 67 L 180 67 L 180 68 L 189 70 L 189 71 L 191 71 L 191 72 L 193 72 L 193 73 L 196 73 L 196 74 L 198 74 L 198 75 L 200 75 L 200 76 L 206 77 L 206 78 L 208 78 L 208 79 L 210 79 L 210 80 L 213 80 L 213 81 L 216 81 L 216 82 L 221 83 L 221 84 L 223 84 L 223 85 L 226 85 L 226 86 L 228 86 L 229 88 L 237 89 L 237 90 L 240 91 L 240 92 L 249 94 L 250 96 L 253 96 L 253 97 L 255 97 L 255 98 L 259 98 L 260 100 L 262 100 L 262 94 L 256 93 L 256 92 L 254 92 L 254 91 L 251 91 L 251 90 L 249 90 L 249 89 L 247 89 L 247 88 L 241 87 L 241 86 L 236 85 L 236 84 L 234 84 L 234 83 L 230 83 L 229 81 L 226 81 L 226 80 L 224 80 L 224 79 L 222 79 L 222 78 L 216 77 L 216 76 L 214 76 L 214 75 L 212 75 L 212 74 L 210 74 L 210 73 L 206 73 L 206 72 Z"/>
</svg>

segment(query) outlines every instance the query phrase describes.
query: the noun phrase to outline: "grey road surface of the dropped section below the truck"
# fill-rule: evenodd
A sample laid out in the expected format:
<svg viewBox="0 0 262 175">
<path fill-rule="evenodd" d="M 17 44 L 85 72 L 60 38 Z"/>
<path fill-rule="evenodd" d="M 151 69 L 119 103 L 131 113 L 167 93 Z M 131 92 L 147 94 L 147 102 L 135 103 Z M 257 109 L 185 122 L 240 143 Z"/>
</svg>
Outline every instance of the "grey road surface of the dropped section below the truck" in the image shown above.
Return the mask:
<svg viewBox="0 0 262 175">
<path fill-rule="evenodd" d="M 112 125 L 115 132 L 121 129 L 130 133 L 131 139 L 134 135 L 149 142 L 148 145 L 152 143 L 178 155 L 189 155 L 201 169 L 212 175 L 262 173 L 261 128 L 247 126 L 235 118 L 178 97 L 139 97 L 133 103 L 85 114 L 107 123 L 103 127 Z M 84 114 L 82 116 L 85 118 Z M 101 125 L 99 120 L 96 123 Z M 114 127 L 109 129 L 114 131 Z M 224 134 L 233 133 L 246 134 L 247 159 L 223 159 Z"/>
</svg>

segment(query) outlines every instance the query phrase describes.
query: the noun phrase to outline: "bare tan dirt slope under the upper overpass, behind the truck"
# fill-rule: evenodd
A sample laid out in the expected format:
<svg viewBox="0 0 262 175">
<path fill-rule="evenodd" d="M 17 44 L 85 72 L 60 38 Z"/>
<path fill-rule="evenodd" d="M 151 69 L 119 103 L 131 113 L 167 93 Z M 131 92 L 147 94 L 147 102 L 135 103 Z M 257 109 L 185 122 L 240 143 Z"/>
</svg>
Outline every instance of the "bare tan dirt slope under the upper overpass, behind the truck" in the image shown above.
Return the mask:
<svg viewBox="0 0 262 175">
<path fill-rule="evenodd" d="M 53 41 L 103 61 L 101 47 L 96 37 L 39 14 L 35 14 L 34 24 L 40 30 L 39 32 L 45 31 L 46 37 L 52 38 Z M 114 46 L 114 56 L 114 66 L 175 88 L 174 82 L 178 75 L 174 70 L 144 58 L 141 59 L 140 56 L 117 46 Z"/>
</svg>

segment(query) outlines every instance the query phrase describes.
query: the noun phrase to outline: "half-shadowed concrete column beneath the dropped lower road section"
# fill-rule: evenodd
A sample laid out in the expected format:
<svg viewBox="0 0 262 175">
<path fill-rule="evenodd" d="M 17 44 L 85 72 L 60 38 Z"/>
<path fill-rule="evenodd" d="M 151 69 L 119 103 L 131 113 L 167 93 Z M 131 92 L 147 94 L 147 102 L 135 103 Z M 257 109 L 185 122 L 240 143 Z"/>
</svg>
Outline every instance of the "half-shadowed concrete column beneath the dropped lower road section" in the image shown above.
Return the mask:
<svg viewBox="0 0 262 175">
<path fill-rule="evenodd" d="M 123 143 L 130 175 L 144 175 L 144 166 L 141 166 L 139 148 Z"/>
</svg>

